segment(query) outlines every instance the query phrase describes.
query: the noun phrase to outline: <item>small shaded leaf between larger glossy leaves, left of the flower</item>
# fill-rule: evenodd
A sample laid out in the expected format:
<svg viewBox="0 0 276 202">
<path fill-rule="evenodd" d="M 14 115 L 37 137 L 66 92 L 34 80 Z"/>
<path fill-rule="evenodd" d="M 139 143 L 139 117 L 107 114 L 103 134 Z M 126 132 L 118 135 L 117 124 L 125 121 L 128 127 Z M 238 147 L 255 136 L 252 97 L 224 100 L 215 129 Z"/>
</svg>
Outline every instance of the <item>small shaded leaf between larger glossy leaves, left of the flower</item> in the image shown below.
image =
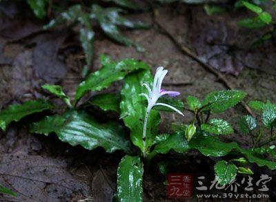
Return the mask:
<svg viewBox="0 0 276 202">
<path fill-rule="evenodd" d="M 89 104 L 99 106 L 103 111 L 120 112 L 120 94 L 103 93 L 93 96 L 88 102 Z"/>
</svg>

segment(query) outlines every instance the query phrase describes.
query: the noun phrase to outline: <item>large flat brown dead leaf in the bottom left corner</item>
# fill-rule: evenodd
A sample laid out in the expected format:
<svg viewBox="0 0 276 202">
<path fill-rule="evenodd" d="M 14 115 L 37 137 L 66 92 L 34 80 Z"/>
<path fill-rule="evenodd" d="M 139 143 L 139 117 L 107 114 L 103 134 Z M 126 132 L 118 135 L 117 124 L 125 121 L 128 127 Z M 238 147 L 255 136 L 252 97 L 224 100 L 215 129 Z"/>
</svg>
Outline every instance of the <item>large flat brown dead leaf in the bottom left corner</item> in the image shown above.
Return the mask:
<svg viewBox="0 0 276 202">
<path fill-rule="evenodd" d="M 32 155 L 1 155 L 0 183 L 17 192 L 4 201 L 70 201 L 88 197 L 88 188 L 67 170 L 65 161 Z"/>
</svg>

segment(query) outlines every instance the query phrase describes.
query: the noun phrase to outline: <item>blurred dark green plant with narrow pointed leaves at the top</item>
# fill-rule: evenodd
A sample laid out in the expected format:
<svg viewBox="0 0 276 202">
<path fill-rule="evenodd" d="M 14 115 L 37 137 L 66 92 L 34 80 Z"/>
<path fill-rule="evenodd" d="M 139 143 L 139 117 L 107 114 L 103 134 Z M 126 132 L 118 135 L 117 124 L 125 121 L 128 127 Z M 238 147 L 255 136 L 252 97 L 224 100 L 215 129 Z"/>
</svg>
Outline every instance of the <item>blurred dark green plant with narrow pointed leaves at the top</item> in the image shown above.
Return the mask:
<svg viewBox="0 0 276 202">
<path fill-rule="evenodd" d="M 120 7 L 129 10 L 143 10 L 141 6 L 133 1 L 104 1 L 113 2 Z M 46 5 L 49 3 L 48 0 L 27 0 L 27 3 L 38 18 L 45 18 L 47 10 Z M 55 27 L 64 27 L 64 25 L 67 27 L 75 27 L 78 25 L 80 27 L 78 30 L 79 41 L 86 60 L 86 65 L 83 67 L 82 72 L 83 77 L 87 76 L 89 68 L 92 65 L 93 43 L 95 41 L 95 22 L 99 24 L 103 33 L 113 41 L 126 46 L 135 46 L 138 51 L 144 51 L 144 48 L 139 45 L 139 43 L 124 36 L 124 34 L 120 32 L 120 28 L 123 27 L 132 30 L 146 29 L 150 27 L 150 25 L 141 21 L 130 21 L 126 19 L 122 14 L 126 14 L 128 11 L 120 7 L 104 8 L 97 3 L 92 3 L 91 8 L 83 8 L 81 4 L 75 4 L 71 5 L 63 12 L 57 12 L 57 17 L 52 19 L 48 25 L 44 26 L 46 30 Z M 61 8 L 59 10 L 61 10 Z"/>
</svg>

